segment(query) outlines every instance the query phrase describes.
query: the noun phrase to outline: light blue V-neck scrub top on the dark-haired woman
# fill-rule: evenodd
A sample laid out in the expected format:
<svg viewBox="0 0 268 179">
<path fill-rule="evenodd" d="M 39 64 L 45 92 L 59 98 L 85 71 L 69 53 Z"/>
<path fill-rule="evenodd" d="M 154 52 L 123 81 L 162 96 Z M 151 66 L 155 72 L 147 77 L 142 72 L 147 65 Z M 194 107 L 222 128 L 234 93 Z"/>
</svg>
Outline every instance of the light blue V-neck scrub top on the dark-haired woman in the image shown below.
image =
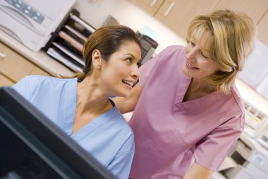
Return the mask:
<svg viewBox="0 0 268 179">
<path fill-rule="evenodd" d="M 72 134 L 77 79 L 27 76 L 13 88 L 118 178 L 128 178 L 134 155 L 133 131 L 116 106 Z"/>
</svg>

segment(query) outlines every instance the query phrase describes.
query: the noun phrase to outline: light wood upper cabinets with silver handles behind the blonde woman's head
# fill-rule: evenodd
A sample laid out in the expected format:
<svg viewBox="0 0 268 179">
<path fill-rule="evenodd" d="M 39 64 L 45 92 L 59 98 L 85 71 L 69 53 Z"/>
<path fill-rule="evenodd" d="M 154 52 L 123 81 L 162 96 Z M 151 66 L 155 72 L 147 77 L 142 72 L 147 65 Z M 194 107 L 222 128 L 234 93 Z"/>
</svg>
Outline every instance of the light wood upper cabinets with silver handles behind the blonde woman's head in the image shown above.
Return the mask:
<svg viewBox="0 0 268 179">
<path fill-rule="evenodd" d="M 195 16 L 207 14 L 217 9 L 229 8 L 243 11 L 259 28 L 259 40 L 268 45 L 268 1 L 263 0 L 130 0 L 149 12 L 181 37 L 186 37 L 188 24 Z M 154 4 L 154 8 L 152 8 Z"/>
</svg>

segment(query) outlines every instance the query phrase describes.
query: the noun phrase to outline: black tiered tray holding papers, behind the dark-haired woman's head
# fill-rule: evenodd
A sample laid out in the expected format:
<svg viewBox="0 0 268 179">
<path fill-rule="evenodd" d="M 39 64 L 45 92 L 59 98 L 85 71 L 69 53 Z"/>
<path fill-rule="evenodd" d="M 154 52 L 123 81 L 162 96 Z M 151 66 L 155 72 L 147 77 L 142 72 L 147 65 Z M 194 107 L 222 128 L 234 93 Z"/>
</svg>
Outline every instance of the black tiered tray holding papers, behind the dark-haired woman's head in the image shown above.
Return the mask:
<svg viewBox="0 0 268 179">
<path fill-rule="evenodd" d="M 83 45 L 94 31 L 95 28 L 79 18 L 78 11 L 73 10 L 48 43 L 47 54 L 69 69 L 80 72 L 84 67 Z"/>
</svg>

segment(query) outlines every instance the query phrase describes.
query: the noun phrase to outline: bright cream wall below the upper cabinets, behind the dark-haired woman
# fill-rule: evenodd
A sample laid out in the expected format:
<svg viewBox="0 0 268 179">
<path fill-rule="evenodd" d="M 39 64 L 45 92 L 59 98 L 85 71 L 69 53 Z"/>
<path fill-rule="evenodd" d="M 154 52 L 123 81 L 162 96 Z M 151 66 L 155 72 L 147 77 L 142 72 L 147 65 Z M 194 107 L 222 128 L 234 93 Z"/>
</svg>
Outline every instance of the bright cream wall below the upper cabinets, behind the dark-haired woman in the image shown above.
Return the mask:
<svg viewBox="0 0 268 179">
<path fill-rule="evenodd" d="M 92 1 L 92 0 L 91 0 Z M 80 17 L 95 28 L 102 26 L 106 18 L 111 15 L 122 25 L 128 25 L 133 30 L 142 30 L 145 25 L 157 32 L 159 43 L 156 53 L 169 45 L 186 45 L 183 38 L 166 28 L 149 13 L 131 4 L 127 0 L 78 0 L 74 8 L 80 11 Z"/>
</svg>

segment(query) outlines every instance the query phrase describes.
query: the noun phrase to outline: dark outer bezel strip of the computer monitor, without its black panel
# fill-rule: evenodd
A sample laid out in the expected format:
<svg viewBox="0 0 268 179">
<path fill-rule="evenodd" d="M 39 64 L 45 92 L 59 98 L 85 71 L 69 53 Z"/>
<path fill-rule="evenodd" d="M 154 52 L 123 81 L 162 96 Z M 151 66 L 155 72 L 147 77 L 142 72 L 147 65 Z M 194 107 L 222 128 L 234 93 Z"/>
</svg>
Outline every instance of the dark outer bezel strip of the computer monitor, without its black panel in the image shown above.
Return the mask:
<svg viewBox="0 0 268 179">
<path fill-rule="evenodd" d="M 113 179 L 94 157 L 11 87 L 0 88 L 0 120 L 62 178 Z M 40 150 L 41 149 L 41 150 Z M 44 151 L 50 152 L 47 157 Z M 54 160 L 62 162 L 58 167 Z M 63 167 L 63 168 L 62 168 Z M 69 168 L 66 175 L 63 171 Z"/>
</svg>

